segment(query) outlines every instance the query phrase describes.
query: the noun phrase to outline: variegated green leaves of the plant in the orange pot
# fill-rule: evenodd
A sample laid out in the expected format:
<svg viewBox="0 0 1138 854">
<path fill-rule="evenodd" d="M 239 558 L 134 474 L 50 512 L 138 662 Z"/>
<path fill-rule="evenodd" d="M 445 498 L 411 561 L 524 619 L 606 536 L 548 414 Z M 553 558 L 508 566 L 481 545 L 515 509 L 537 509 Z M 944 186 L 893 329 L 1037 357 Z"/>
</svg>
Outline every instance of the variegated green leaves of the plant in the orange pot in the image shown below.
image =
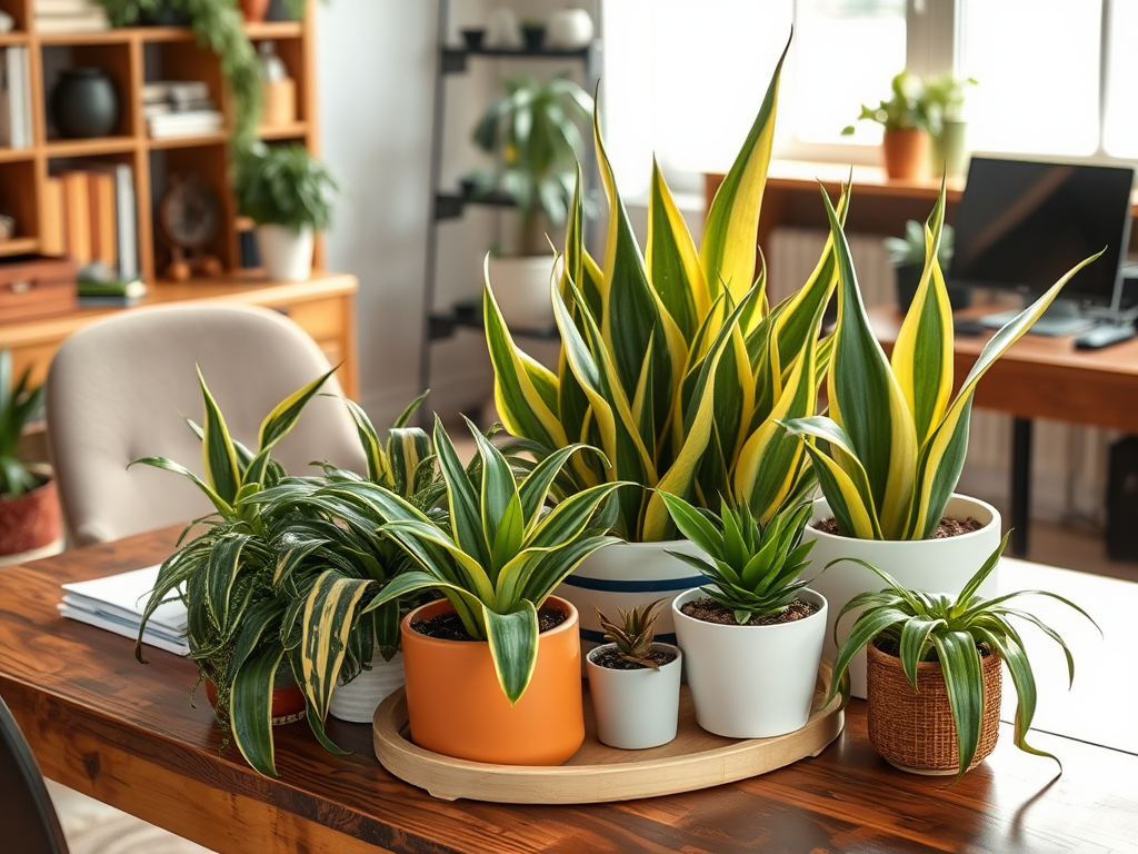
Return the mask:
<svg viewBox="0 0 1138 854">
<path fill-rule="evenodd" d="M 436 418 L 435 451 L 446 482 L 445 525 L 382 487 L 343 484 L 336 491 L 348 500 L 354 496 L 357 512 L 381 522 L 380 529 L 418 565 L 365 607 L 423 590 L 442 592 L 467 633 L 489 642 L 502 690 L 517 703 L 537 660 L 537 609 L 582 560 L 617 542 L 605 534 L 612 526 L 605 500 L 621 484 L 599 484 L 547 510 L 553 479 L 584 446 L 551 454 L 519 483 L 502 452 L 473 425 L 470 432 L 478 455 L 467 470 Z"/>
</svg>

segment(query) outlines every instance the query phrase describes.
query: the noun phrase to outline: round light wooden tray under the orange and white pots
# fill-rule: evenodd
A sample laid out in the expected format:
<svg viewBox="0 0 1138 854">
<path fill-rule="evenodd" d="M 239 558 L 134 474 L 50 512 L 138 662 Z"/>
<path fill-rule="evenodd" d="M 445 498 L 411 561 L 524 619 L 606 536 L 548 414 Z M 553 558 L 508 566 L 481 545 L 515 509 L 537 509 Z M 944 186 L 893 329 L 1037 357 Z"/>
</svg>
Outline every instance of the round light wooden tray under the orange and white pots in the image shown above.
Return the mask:
<svg viewBox="0 0 1138 854">
<path fill-rule="evenodd" d="M 832 665 L 818 668 L 816 697 L 828 687 Z M 443 800 L 469 798 L 500 804 L 589 804 L 673 795 L 677 791 L 765 774 L 817 756 L 842 731 L 835 697 L 806 726 L 775 738 L 729 739 L 695 723 L 687 685 L 681 688 L 679 730 L 674 741 L 648 750 L 619 750 L 596 739 L 585 690 L 585 744 L 562 765 L 490 765 L 442 756 L 411 742 L 403 690 L 389 696 L 372 721 L 376 756 L 412 786 Z"/>
</svg>

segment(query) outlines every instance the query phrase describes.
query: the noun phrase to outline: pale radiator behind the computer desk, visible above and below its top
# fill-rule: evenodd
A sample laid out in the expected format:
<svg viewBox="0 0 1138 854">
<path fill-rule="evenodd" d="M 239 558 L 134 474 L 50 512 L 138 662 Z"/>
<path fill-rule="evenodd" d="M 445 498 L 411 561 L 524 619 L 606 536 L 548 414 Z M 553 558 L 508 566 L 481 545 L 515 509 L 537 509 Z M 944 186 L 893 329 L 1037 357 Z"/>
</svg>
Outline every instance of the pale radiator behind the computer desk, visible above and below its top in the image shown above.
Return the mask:
<svg viewBox="0 0 1138 854">
<path fill-rule="evenodd" d="M 850 253 L 866 306 L 892 302 L 893 269 L 881 238 L 849 235 Z M 772 305 L 800 288 L 818 263 L 824 231 L 777 228 L 765 246 Z M 983 380 L 981 380 L 983 381 Z M 1032 516 L 1059 522 L 1105 524 L 1110 445 L 1121 434 L 1057 421 L 1036 421 L 1032 449 Z M 968 457 L 960 490 L 1007 508 L 1012 419 L 982 410 L 972 413 Z"/>
</svg>

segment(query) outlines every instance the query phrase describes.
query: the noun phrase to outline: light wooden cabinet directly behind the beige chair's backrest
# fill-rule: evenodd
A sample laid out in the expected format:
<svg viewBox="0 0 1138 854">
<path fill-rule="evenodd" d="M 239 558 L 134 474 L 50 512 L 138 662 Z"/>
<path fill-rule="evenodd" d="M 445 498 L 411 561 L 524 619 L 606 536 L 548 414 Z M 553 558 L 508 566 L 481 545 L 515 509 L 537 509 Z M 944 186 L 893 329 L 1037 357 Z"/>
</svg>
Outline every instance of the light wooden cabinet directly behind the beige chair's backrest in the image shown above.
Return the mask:
<svg viewBox="0 0 1138 854">
<path fill-rule="evenodd" d="M 314 272 L 308 281 L 297 282 L 269 282 L 253 276 L 185 284 L 159 281 L 150 286 L 150 293 L 138 305 L 221 301 L 275 309 L 308 332 L 329 362 L 344 362 L 337 375 L 340 385 L 349 397 L 357 397 L 360 375 L 354 301 L 358 287 L 354 276 L 327 272 Z M 0 319 L 0 347 L 11 347 L 16 376 L 31 364 L 34 380 L 42 381 L 64 338 L 109 312 L 134 307 L 79 309 L 68 314 L 16 323 L 5 323 Z"/>
</svg>

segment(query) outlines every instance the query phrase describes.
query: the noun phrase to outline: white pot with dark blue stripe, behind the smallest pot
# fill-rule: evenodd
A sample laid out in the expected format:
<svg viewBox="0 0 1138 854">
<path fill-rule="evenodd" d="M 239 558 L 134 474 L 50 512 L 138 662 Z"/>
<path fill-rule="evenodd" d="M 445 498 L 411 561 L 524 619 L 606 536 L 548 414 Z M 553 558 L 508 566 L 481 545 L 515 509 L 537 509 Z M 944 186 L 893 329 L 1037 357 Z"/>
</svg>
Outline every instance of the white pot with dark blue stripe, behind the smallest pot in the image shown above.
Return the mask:
<svg viewBox="0 0 1138 854">
<path fill-rule="evenodd" d="M 594 551 L 558 585 L 556 594 L 572 602 L 580 614 L 582 650 L 587 652 L 604 643 L 597 608 L 615 621 L 617 608 L 632 610 L 657 599 L 671 599 L 707 581 L 669 551 L 707 557 L 688 540 L 617 543 Z M 675 632 L 671 610 L 663 606 L 655 622 L 655 637 L 662 643 L 675 643 Z"/>
</svg>

